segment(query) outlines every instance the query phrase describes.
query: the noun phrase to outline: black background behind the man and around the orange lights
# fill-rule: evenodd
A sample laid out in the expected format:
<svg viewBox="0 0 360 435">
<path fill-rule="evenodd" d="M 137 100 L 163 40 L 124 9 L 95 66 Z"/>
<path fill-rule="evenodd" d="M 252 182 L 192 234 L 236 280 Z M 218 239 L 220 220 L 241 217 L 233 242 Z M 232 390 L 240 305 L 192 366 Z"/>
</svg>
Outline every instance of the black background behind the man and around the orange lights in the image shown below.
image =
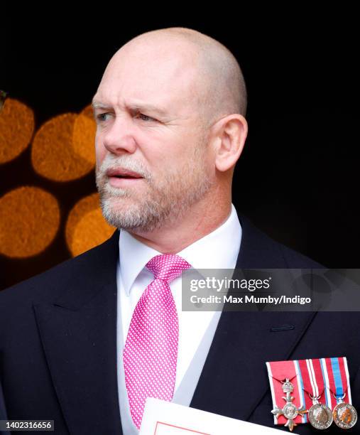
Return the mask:
<svg viewBox="0 0 360 435">
<path fill-rule="evenodd" d="M 241 4 L 237 4 L 241 6 Z M 156 28 L 195 28 L 224 43 L 239 60 L 249 93 L 249 136 L 236 167 L 233 203 L 274 239 L 327 267 L 357 268 L 359 245 L 359 32 L 345 6 L 253 13 L 217 4 L 194 16 L 168 4 L 6 6 L 1 17 L 0 89 L 31 106 L 36 129 L 78 112 L 92 99 L 114 52 Z M 223 10 L 222 8 L 226 8 Z M 16 6 L 12 9 L 16 9 Z M 30 148 L 0 166 L 0 196 L 43 186 L 62 206 L 62 226 L 31 259 L 0 255 L 0 289 L 70 258 L 63 230 L 79 198 L 96 191 L 94 172 L 55 183 L 37 176 Z"/>
</svg>

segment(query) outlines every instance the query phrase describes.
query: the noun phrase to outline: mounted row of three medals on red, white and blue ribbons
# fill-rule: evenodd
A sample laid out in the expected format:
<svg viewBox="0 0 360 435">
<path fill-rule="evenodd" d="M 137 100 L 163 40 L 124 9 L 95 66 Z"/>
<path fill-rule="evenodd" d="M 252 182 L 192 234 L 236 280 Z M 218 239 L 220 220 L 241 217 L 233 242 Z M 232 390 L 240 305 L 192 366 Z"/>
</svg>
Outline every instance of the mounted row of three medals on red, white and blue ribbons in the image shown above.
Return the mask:
<svg viewBox="0 0 360 435">
<path fill-rule="evenodd" d="M 266 367 L 274 424 L 285 424 L 290 431 L 307 422 L 320 430 L 328 429 L 332 421 L 341 429 L 356 424 L 347 358 L 271 361 Z"/>
</svg>

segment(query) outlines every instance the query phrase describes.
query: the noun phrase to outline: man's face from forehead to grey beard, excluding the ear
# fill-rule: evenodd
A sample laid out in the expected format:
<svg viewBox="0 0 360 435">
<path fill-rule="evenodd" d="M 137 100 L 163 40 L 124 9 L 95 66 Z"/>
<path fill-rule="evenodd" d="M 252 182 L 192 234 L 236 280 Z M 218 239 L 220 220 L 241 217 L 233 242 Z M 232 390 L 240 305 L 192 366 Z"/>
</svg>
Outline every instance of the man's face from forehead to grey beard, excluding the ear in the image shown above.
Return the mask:
<svg viewBox="0 0 360 435">
<path fill-rule="evenodd" d="M 96 181 L 115 227 L 143 232 L 175 222 L 213 186 L 214 168 L 195 103 L 196 72 L 186 51 L 116 53 L 93 102 Z"/>
</svg>

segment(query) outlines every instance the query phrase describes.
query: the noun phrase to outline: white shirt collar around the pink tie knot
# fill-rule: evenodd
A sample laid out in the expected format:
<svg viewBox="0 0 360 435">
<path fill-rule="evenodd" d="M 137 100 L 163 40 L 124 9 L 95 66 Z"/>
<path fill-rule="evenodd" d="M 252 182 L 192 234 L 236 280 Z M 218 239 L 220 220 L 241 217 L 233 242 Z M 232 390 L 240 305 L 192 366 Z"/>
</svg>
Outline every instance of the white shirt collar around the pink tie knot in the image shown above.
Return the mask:
<svg viewBox="0 0 360 435">
<path fill-rule="evenodd" d="M 195 269 L 234 269 L 241 243 L 241 225 L 234 204 L 227 220 L 216 230 L 178 252 Z M 120 273 L 126 295 L 146 263 L 156 255 L 156 249 L 139 242 L 121 229 L 119 237 Z"/>
</svg>

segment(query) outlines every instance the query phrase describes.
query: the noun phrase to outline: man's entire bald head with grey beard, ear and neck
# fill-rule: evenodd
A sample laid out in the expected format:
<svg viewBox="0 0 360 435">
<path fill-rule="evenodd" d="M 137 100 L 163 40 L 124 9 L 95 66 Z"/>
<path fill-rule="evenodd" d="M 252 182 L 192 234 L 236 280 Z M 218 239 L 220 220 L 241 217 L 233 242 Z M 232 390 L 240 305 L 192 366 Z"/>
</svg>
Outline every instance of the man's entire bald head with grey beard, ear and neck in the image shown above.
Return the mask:
<svg viewBox="0 0 360 435">
<path fill-rule="evenodd" d="M 189 28 L 136 36 L 111 58 L 93 107 L 111 225 L 178 252 L 224 222 L 247 134 L 244 77 L 224 45 Z M 111 174 L 125 170 L 138 176 Z"/>
</svg>

